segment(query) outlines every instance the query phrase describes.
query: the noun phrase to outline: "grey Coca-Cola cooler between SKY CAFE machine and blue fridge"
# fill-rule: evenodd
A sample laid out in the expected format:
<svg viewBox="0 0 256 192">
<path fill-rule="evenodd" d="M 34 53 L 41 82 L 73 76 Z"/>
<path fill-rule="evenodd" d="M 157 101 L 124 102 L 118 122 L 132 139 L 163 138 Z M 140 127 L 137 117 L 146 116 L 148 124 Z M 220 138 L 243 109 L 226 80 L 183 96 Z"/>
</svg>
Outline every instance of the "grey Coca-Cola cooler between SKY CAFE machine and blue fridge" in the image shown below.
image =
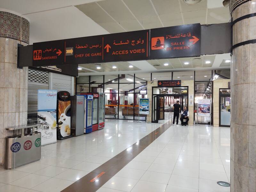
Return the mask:
<svg viewBox="0 0 256 192">
<path fill-rule="evenodd" d="M 84 134 L 84 96 L 74 95 L 71 100 L 71 135 L 78 136 Z"/>
</svg>

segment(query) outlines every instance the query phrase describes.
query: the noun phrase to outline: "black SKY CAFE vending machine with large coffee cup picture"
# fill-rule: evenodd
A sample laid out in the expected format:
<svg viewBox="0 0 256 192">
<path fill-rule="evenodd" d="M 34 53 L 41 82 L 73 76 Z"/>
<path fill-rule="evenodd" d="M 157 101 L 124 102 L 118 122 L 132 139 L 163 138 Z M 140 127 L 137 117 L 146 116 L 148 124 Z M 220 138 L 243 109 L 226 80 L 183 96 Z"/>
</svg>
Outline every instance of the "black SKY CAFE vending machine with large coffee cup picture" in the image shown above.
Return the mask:
<svg viewBox="0 0 256 192">
<path fill-rule="evenodd" d="M 70 93 L 59 91 L 57 93 L 57 139 L 63 140 L 69 137 L 72 137 Z"/>
</svg>

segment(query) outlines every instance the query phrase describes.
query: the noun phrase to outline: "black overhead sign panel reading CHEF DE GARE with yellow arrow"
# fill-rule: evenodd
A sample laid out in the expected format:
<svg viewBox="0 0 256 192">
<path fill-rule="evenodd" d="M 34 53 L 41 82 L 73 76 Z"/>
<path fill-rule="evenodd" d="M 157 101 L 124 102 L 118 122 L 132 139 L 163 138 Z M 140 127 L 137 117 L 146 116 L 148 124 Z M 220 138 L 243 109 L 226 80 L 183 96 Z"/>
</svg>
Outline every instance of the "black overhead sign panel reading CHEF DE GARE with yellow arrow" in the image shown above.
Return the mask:
<svg viewBox="0 0 256 192">
<path fill-rule="evenodd" d="M 103 62 L 103 36 L 79 37 L 64 40 L 66 64 Z"/>
</svg>

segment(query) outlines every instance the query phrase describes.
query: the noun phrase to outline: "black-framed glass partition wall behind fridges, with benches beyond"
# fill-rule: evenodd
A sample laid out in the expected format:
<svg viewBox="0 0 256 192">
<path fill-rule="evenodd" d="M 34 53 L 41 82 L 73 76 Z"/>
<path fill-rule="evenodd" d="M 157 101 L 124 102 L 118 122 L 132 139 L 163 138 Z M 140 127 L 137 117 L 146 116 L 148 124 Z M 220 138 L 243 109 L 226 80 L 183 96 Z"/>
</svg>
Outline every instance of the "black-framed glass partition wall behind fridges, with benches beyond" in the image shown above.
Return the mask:
<svg viewBox="0 0 256 192">
<path fill-rule="evenodd" d="M 151 74 L 81 76 L 77 79 L 77 93 L 105 93 L 105 118 L 138 120 L 139 99 L 147 98 L 147 95 L 140 95 L 140 90 L 147 89 Z M 145 116 L 140 120 L 146 120 Z"/>
</svg>

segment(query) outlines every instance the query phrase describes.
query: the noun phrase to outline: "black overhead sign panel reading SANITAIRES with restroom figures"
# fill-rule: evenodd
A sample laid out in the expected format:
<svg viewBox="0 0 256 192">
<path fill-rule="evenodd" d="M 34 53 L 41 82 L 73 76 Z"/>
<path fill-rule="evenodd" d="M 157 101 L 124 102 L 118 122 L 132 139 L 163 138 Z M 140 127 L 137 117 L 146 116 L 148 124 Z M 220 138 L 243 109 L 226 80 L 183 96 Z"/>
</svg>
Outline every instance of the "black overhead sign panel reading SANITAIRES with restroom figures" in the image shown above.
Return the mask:
<svg viewBox="0 0 256 192">
<path fill-rule="evenodd" d="M 63 65 L 63 40 L 33 44 L 33 66 Z"/>
</svg>

